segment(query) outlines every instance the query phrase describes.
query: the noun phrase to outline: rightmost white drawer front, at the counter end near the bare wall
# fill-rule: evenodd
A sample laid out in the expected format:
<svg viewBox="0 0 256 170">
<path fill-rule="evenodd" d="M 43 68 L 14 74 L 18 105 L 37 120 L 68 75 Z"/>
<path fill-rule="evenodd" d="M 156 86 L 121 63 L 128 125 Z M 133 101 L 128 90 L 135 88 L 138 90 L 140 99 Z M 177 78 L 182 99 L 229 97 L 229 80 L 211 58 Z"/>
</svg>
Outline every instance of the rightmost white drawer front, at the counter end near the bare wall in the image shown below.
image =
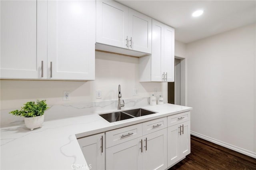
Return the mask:
<svg viewBox="0 0 256 170">
<path fill-rule="evenodd" d="M 167 117 L 168 127 L 190 120 L 190 112 L 178 113 Z"/>
</svg>

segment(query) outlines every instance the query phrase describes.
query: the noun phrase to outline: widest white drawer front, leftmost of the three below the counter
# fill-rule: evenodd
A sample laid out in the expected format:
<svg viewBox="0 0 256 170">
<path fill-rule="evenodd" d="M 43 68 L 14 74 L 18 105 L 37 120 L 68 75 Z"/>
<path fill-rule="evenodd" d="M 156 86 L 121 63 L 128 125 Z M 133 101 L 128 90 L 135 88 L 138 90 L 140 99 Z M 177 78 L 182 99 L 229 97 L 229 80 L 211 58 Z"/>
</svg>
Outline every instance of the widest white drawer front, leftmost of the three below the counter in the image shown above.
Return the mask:
<svg viewBox="0 0 256 170">
<path fill-rule="evenodd" d="M 118 128 L 106 132 L 106 148 L 142 136 L 142 124 Z"/>
</svg>

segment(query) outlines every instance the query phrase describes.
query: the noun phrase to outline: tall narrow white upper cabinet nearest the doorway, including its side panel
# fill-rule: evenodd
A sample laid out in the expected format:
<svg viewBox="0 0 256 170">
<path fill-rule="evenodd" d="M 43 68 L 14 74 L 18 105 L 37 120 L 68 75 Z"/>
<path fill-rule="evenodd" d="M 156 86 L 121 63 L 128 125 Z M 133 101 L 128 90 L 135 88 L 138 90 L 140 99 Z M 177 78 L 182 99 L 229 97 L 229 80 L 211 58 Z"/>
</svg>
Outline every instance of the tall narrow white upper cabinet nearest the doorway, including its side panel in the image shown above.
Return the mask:
<svg viewBox="0 0 256 170">
<path fill-rule="evenodd" d="M 174 81 L 174 29 L 152 20 L 151 57 L 140 58 L 140 81 Z"/>
</svg>

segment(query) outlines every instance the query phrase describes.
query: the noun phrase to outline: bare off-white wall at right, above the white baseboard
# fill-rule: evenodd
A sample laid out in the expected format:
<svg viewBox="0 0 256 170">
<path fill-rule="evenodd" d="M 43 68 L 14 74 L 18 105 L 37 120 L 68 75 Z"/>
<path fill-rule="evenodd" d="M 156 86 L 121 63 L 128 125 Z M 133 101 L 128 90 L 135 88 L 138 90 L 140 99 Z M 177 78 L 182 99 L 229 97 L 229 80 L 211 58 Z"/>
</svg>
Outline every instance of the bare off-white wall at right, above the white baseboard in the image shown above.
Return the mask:
<svg viewBox="0 0 256 170">
<path fill-rule="evenodd" d="M 191 131 L 255 156 L 256 25 L 187 44 L 186 63 Z"/>
</svg>

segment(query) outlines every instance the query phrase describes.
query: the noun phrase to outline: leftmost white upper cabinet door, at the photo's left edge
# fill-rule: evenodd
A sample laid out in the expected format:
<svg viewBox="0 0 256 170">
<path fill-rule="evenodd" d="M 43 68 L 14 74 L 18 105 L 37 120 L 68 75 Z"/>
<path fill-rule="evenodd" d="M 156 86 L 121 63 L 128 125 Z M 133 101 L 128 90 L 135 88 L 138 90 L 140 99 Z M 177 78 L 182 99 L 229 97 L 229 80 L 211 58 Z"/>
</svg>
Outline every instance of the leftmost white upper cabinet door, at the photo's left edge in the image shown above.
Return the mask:
<svg viewBox="0 0 256 170">
<path fill-rule="evenodd" d="M 1 0 L 0 6 L 0 77 L 46 78 L 47 1 Z"/>
</svg>

